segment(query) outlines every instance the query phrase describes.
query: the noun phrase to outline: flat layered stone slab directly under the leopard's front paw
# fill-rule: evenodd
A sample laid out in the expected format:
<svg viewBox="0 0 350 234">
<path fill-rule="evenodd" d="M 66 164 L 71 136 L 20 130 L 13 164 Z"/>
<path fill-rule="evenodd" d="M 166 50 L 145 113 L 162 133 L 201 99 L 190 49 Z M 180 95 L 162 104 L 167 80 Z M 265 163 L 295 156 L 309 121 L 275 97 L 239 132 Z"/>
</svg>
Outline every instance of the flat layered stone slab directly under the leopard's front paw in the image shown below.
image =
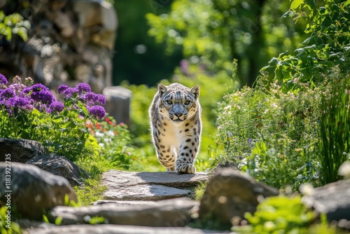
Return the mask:
<svg viewBox="0 0 350 234">
<path fill-rule="evenodd" d="M 186 197 L 193 188 L 207 181 L 206 173 L 124 172 L 110 170 L 102 174 L 108 200 L 165 200 Z"/>
</svg>

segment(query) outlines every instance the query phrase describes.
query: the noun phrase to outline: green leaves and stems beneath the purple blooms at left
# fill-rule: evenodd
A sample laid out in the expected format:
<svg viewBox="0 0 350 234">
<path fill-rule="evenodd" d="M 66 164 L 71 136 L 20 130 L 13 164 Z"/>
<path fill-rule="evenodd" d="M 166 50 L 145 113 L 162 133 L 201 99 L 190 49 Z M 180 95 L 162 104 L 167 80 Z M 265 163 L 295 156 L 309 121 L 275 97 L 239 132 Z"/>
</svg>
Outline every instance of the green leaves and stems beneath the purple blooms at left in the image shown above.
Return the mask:
<svg viewBox="0 0 350 234">
<path fill-rule="evenodd" d="M 18 76 L 13 79 L 13 83 L 15 86 L 12 89 L 17 87 L 16 92 L 19 96 L 22 95 L 27 86 Z M 31 86 L 30 83 L 27 85 Z M 31 93 L 32 91 L 27 95 L 30 96 Z M 8 99 L 1 97 L 0 137 L 36 140 L 49 153 L 57 153 L 70 160 L 92 156 L 99 151 L 100 146 L 85 126 L 88 120 L 94 121 L 95 118 L 87 111 L 85 101 L 76 93 L 64 100 L 64 109 L 60 112 L 48 111 L 44 101 L 38 102 L 40 108 L 43 108 L 41 111 L 32 107 L 20 109 L 18 106 L 8 109 Z"/>
</svg>

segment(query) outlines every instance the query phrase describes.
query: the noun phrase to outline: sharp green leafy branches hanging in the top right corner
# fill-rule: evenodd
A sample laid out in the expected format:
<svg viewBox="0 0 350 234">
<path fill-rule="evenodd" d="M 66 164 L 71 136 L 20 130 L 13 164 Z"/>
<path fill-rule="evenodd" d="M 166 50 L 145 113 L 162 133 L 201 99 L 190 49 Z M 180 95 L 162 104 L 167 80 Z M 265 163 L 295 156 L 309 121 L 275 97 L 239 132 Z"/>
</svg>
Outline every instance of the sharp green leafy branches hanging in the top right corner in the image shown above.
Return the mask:
<svg viewBox="0 0 350 234">
<path fill-rule="evenodd" d="M 336 65 L 342 74 L 349 72 L 349 2 L 328 0 L 316 6 L 315 1 L 295 0 L 290 8 L 283 17 L 306 20 L 309 37 L 294 53 L 273 57 L 262 70 L 274 69 L 274 79 L 285 91 L 299 89 L 300 83 L 321 83 Z"/>
</svg>

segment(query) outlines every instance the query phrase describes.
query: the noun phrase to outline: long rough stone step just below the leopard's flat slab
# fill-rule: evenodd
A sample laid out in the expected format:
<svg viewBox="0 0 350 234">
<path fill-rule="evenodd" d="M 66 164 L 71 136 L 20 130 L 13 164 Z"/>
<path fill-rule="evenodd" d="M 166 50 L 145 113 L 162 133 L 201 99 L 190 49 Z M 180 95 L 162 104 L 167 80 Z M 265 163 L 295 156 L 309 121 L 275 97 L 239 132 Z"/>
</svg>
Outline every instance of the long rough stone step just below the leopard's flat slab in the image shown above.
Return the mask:
<svg viewBox="0 0 350 234">
<path fill-rule="evenodd" d="M 162 200 L 150 204 L 102 204 L 91 207 L 55 207 L 50 221 L 62 217 L 62 224 L 87 223 L 87 217 L 103 216 L 108 223 L 138 226 L 185 226 L 198 210 L 199 202 L 190 198 Z"/>
</svg>

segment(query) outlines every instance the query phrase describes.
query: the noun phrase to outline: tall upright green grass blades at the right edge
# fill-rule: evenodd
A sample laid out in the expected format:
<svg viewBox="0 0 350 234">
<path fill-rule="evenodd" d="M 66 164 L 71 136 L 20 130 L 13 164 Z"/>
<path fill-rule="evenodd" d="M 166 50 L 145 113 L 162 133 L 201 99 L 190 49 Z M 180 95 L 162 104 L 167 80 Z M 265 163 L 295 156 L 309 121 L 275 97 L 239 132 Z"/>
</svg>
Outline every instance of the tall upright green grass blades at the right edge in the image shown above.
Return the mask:
<svg viewBox="0 0 350 234">
<path fill-rule="evenodd" d="M 320 161 L 323 184 L 337 181 L 338 170 L 350 159 L 350 76 L 334 78 L 321 98 Z"/>
</svg>

